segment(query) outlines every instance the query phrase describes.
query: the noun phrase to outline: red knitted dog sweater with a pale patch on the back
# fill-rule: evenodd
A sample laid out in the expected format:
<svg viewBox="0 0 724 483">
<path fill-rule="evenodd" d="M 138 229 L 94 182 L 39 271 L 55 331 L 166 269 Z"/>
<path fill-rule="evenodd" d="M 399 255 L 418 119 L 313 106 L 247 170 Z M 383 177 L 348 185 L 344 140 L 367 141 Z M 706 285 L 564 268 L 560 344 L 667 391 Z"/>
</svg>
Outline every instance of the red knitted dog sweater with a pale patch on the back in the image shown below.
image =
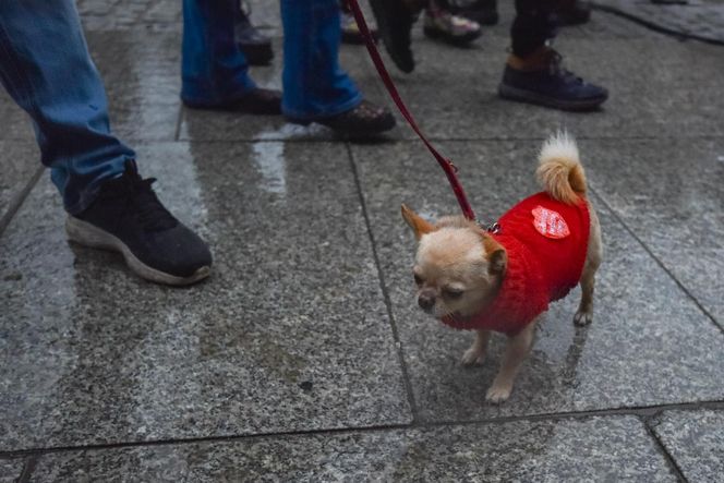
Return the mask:
<svg viewBox="0 0 724 483">
<path fill-rule="evenodd" d="M 508 255 L 498 294 L 480 314 L 444 317 L 450 327 L 516 334 L 580 280 L 591 225 L 586 201 L 567 205 L 541 192 L 498 224 L 500 231 L 491 236 Z"/>
</svg>

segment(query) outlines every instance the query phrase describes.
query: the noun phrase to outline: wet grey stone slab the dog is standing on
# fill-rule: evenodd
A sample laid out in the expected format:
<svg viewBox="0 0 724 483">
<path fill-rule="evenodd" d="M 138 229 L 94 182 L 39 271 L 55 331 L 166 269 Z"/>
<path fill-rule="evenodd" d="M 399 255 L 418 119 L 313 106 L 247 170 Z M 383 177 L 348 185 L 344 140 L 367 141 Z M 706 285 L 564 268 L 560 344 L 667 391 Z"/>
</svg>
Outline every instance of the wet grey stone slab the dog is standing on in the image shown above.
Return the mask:
<svg viewBox="0 0 724 483">
<path fill-rule="evenodd" d="M 461 168 L 462 183 L 484 221 L 538 191 L 533 181 L 538 141 L 448 142 L 442 147 Z M 594 142 L 586 143 L 583 162 L 595 162 L 604 153 Z M 724 397 L 724 336 L 594 200 L 605 255 L 593 324 L 582 329 L 572 324 L 578 289 L 553 304 L 510 400 L 500 407 L 486 404 L 484 396 L 497 371 L 503 338 L 493 340 L 483 366 L 462 367 L 459 360 L 472 334 L 429 318 L 414 300 L 414 239 L 399 205 L 407 203 L 433 218 L 459 213 L 442 170 L 417 143 L 354 146 L 353 156 L 423 420 L 478 420 Z M 595 173 L 591 170 L 594 185 Z"/>
</svg>

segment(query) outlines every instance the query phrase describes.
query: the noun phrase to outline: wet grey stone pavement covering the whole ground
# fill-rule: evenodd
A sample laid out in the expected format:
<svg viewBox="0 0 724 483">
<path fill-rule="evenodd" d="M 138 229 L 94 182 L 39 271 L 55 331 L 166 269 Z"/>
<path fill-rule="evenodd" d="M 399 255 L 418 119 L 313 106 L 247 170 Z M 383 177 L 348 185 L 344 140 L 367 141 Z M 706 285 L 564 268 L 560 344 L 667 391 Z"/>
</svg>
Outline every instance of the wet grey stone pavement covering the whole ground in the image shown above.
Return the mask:
<svg viewBox="0 0 724 483">
<path fill-rule="evenodd" d="M 274 8 L 270 7 L 274 3 Z M 352 144 L 279 118 L 181 108 L 178 2 L 81 1 L 116 131 L 215 255 L 188 289 L 69 245 L 23 113 L 0 96 L 0 482 L 722 481 L 722 47 L 604 12 L 562 32 L 599 112 L 495 96 L 511 19 L 456 50 L 417 34 L 395 73 L 420 124 L 493 220 L 534 189 L 542 140 L 579 138 L 605 258 L 594 322 L 553 304 L 510 400 L 485 403 L 503 340 L 415 309 L 407 203 L 455 213 L 400 123 Z M 275 2 L 255 21 L 280 35 Z M 279 86 L 280 57 L 253 70 Z M 386 99 L 365 52 L 342 61 Z"/>
</svg>

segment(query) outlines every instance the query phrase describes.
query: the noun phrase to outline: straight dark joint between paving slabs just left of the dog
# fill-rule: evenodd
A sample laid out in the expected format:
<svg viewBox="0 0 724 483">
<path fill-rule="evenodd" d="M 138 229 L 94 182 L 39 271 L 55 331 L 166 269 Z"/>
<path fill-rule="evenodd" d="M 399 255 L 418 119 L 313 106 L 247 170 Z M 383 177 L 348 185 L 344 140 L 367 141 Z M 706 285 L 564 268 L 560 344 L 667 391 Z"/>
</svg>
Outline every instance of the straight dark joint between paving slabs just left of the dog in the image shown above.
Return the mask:
<svg viewBox="0 0 724 483">
<path fill-rule="evenodd" d="M 362 216 L 364 217 L 364 225 L 367 230 L 367 236 L 370 238 L 370 244 L 372 246 L 372 256 L 375 261 L 375 268 L 377 269 L 377 280 L 379 282 L 379 290 L 382 291 L 383 299 L 385 300 L 385 307 L 387 310 L 387 318 L 389 321 L 389 327 L 393 331 L 393 338 L 395 340 L 395 348 L 397 350 L 397 358 L 400 364 L 400 370 L 402 371 L 402 379 L 405 382 L 405 391 L 407 393 L 408 403 L 410 404 L 410 412 L 412 413 L 412 424 L 418 421 L 418 404 L 414 400 L 414 393 L 412 390 L 412 383 L 410 382 L 410 375 L 408 374 L 407 363 L 405 362 L 405 350 L 402 348 L 402 342 L 400 341 L 399 333 L 397 329 L 397 323 L 393 316 L 393 302 L 389 298 L 389 292 L 387 291 L 387 283 L 385 282 L 385 274 L 382 269 L 382 264 L 379 263 L 379 255 L 377 254 L 377 244 L 375 242 L 374 233 L 372 232 L 372 224 L 370 222 L 370 216 L 367 214 L 367 205 L 364 200 L 364 193 L 362 192 L 362 182 L 360 181 L 360 173 L 357 169 L 357 162 L 354 161 L 354 155 L 352 154 L 352 147 L 350 143 L 345 143 L 347 147 L 347 156 L 349 158 L 350 167 L 352 168 L 352 176 L 354 177 L 354 185 L 357 188 L 357 193 L 360 198 L 360 206 L 362 208 Z"/>
</svg>

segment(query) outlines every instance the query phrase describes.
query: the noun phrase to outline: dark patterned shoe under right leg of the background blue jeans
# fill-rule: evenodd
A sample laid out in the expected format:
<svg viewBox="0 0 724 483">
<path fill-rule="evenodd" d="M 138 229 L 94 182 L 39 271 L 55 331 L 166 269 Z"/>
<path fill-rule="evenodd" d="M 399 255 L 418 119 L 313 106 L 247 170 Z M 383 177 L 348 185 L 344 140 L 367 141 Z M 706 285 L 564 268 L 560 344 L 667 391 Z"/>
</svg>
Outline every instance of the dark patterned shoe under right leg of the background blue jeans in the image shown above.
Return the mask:
<svg viewBox="0 0 724 483">
<path fill-rule="evenodd" d="M 312 121 L 289 119 L 298 124 Z M 370 137 L 395 128 L 395 117 L 384 107 L 363 100 L 355 108 L 329 118 L 315 119 L 314 122 L 326 125 L 337 134 L 348 137 Z"/>
</svg>

